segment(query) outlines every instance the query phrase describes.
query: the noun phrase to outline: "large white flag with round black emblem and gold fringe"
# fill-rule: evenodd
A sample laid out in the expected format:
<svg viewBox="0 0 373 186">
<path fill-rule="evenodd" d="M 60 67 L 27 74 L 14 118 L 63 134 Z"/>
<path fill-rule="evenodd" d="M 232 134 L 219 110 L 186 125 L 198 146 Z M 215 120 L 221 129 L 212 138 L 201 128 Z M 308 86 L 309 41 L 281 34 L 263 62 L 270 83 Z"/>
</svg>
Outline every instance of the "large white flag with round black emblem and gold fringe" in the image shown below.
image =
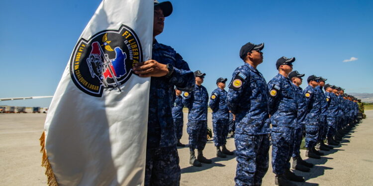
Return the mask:
<svg viewBox="0 0 373 186">
<path fill-rule="evenodd" d="M 103 0 L 53 96 L 40 138 L 49 185 L 144 185 L 153 0 Z"/>
</svg>

